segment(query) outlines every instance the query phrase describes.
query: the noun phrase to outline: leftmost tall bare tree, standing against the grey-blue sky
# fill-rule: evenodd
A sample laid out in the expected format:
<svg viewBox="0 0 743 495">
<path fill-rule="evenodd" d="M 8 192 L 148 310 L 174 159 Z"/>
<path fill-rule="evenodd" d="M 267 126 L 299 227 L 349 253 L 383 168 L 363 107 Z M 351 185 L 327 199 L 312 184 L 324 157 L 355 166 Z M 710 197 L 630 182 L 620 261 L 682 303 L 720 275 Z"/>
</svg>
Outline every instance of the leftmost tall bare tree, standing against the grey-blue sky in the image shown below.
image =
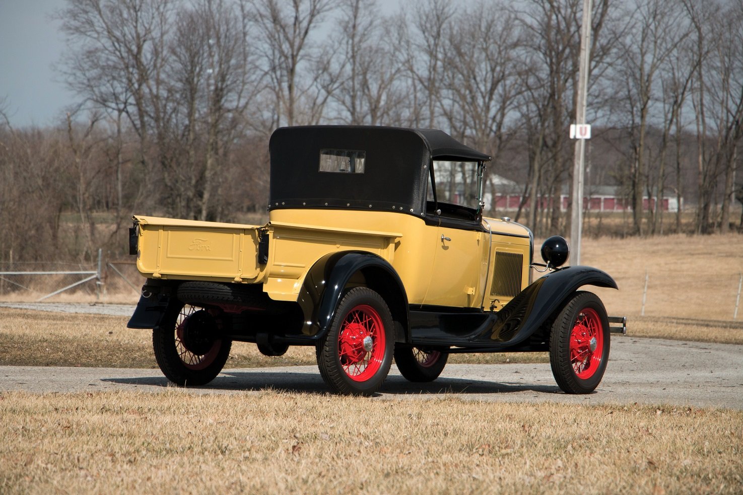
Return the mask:
<svg viewBox="0 0 743 495">
<path fill-rule="evenodd" d="M 170 0 L 68 0 L 57 13 L 69 48 L 60 65 L 65 81 L 83 105 L 105 110 L 117 123 L 119 149 L 125 133 L 134 131 L 139 146 L 133 160 L 150 177 L 159 177 L 160 167 L 167 173 L 172 163 L 164 153 L 173 102 L 163 68 L 174 6 Z M 128 160 L 118 156 L 117 167 Z M 137 196 L 160 195 L 158 181 L 140 184 L 147 191 Z"/>
</svg>

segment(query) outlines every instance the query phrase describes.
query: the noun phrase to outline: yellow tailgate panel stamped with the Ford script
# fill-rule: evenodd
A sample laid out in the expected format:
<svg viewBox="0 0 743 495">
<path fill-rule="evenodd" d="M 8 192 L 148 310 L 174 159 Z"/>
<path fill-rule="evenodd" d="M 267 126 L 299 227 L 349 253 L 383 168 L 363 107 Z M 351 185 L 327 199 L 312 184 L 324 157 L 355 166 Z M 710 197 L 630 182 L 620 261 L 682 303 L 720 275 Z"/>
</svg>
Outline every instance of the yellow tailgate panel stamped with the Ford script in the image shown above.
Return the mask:
<svg viewBox="0 0 743 495">
<path fill-rule="evenodd" d="M 155 279 L 250 282 L 260 272 L 261 229 L 258 225 L 134 216 L 137 269 Z"/>
</svg>

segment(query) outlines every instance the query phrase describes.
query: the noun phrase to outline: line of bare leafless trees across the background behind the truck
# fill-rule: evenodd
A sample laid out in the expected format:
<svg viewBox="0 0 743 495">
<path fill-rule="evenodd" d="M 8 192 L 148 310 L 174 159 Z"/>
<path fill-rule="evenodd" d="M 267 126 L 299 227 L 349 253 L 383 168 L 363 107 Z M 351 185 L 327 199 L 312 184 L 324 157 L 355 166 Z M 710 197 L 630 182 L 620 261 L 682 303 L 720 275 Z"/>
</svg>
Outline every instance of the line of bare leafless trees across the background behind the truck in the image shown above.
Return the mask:
<svg viewBox="0 0 743 495">
<path fill-rule="evenodd" d="M 522 185 L 517 220 L 566 233 L 582 8 L 68 0 L 57 70 L 77 105 L 16 129 L 0 102 L 0 261 L 123 252 L 132 213 L 265 212 L 270 133 L 317 123 L 442 129 Z M 696 233 L 739 229 L 743 0 L 594 0 L 591 25 L 588 188 L 617 186 L 635 235 L 684 230 L 643 208 L 669 195 Z"/>
</svg>

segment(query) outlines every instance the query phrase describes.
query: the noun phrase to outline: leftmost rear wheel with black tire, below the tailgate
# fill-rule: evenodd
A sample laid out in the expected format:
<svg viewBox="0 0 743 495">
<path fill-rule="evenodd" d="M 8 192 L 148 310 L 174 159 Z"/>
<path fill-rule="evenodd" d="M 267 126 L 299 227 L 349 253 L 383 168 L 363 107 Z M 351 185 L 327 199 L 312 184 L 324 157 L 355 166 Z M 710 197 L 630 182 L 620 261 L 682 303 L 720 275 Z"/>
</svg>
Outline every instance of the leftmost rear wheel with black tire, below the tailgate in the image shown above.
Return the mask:
<svg viewBox="0 0 743 495">
<path fill-rule="evenodd" d="M 220 333 L 218 321 L 204 308 L 172 305 L 160 326 L 152 329 L 155 360 L 163 375 L 180 386 L 208 384 L 230 356 L 232 340 Z"/>
</svg>

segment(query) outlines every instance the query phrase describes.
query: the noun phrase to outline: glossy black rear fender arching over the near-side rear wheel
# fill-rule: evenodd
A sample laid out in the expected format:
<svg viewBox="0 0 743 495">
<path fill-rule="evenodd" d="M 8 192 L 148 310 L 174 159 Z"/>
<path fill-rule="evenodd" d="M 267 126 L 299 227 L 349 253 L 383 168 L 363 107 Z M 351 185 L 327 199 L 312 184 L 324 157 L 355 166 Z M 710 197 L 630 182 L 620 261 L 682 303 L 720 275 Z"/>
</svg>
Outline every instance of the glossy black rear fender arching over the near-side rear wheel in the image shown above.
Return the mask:
<svg viewBox="0 0 743 495">
<path fill-rule="evenodd" d="M 325 335 L 344 289 L 358 272 L 363 274 L 366 286 L 383 297 L 392 319 L 402 326 L 396 329 L 396 340 L 409 342 L 408 298 L 403 282 L 386 259 L 366 251 L 331 253 L 310 268 L 297 298 L 305 314 L 302 334 L 313 339 Z"/>
</svg>

